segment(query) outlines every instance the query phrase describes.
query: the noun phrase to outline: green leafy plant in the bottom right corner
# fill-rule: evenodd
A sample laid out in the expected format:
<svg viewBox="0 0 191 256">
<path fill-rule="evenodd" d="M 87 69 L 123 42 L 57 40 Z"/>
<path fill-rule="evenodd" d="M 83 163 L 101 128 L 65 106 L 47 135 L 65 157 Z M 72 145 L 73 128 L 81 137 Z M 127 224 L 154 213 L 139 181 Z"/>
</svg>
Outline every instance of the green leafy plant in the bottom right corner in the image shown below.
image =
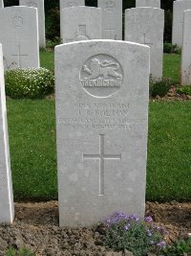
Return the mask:
<svg viewBox="0 0 191 256">
<path fill-rule="evenodd" d="M 166 246 L 160 256 L 184 256 L 185 253 L 191 253 L 191 238 L 180 240 L 171 247 Z"/>
</svg>

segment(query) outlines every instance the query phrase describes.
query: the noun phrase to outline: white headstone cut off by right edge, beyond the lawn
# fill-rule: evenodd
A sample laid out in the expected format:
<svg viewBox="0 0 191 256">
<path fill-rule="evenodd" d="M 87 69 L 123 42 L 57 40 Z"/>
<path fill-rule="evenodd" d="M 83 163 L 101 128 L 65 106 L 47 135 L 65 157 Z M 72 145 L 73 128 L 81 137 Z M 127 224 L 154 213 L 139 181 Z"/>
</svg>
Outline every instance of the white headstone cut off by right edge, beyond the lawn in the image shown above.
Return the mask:
<svg viewBox="0 0 191 256">
<path fill-rule="evenodd" d="M 181 85 L 191 84 L 191 11 L 184 11 L 181 49 Z"/>
</svg>

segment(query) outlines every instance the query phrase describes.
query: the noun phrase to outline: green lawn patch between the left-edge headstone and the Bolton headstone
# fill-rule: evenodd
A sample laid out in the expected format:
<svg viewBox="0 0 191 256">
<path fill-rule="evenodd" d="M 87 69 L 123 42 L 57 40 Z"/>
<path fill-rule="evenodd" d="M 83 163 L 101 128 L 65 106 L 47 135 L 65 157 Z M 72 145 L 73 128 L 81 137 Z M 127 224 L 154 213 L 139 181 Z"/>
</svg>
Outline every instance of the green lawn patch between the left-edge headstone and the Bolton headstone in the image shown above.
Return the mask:
<svg viewBox="0 0 191 256">
<path fill-rule="evenodd" d="M 9 100 L 15 199 L 57 198 L 54 102 Z"/>
</svg>

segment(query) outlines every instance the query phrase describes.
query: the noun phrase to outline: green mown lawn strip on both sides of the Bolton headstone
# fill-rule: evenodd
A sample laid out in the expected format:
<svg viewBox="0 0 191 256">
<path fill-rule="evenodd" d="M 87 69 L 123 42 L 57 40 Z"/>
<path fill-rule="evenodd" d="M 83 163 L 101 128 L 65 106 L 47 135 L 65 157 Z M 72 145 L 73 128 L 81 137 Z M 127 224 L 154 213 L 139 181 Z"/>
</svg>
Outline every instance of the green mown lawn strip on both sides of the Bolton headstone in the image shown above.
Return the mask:
<svg viewBox="0 0 191 256">
<path fill-rule="evenodd" d="M 57 198 L 54 101 L 9 100 L 15 200 Z M 150 103 L 147 200 L 191 199 L 191 102 Z"/>
</svg>

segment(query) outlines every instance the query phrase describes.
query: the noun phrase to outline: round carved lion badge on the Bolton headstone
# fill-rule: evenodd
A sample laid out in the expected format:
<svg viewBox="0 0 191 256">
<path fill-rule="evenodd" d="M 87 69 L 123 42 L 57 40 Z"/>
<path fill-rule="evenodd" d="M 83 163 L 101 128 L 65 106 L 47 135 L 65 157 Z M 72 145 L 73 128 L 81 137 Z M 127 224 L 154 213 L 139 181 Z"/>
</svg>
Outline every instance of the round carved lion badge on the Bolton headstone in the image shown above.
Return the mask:
<svg viewBox="0 0 191 256">
<path fill-rule="evenodd" d="M 116 58 L 96 55 L 88 58 L 81 68 L 80 82 L 92 96 L 107 98 L 122 86 L 123 70 Z"/>
</svg>

